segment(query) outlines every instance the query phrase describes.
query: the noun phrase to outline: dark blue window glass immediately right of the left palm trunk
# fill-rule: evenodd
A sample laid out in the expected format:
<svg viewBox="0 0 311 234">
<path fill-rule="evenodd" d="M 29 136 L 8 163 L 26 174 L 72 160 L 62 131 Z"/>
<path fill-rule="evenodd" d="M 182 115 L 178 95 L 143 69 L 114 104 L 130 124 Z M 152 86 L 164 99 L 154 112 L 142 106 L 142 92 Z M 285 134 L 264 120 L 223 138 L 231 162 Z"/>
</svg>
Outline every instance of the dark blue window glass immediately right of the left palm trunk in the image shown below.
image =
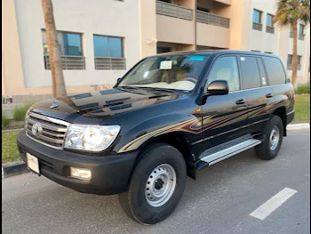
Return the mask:
<svg viewBox="0 0 311 234">
<path fill-rule="evenodd" d="M 72 33 L 63 33 L 64 55 L 81 56 L 81 35 Z"/>
</svg>

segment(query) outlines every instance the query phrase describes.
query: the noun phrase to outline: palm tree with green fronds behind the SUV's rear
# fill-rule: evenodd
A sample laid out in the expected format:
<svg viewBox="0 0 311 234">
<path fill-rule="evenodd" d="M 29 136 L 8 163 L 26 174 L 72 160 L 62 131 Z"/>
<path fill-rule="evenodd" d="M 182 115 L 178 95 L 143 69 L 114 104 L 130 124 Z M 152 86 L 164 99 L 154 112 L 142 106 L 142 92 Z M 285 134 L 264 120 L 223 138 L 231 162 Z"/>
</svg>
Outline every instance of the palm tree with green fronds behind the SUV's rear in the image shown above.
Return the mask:
<svg viewBox="0 0 311 234">
<path fill-rule="evenodd" d="M 277 11 L 273 19 L 280 28 L 290 26 L 293 33 L 291 83 L 297 88 L 297 36 L 298 22 L 310 22 L 310 0 L 277 0 Z"/>
</svg>

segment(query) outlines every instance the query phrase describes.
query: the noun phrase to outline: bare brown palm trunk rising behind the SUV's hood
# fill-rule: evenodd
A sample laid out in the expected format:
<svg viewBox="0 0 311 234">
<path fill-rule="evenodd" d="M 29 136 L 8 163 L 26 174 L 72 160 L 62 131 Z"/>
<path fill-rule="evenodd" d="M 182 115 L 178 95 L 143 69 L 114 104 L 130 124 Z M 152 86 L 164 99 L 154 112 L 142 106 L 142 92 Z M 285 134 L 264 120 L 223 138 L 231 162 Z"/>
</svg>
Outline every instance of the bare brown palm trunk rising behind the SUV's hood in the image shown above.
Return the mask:
<svg viewBox="0 0 311 234">
<path fill-rule="evenodd" d="M 52 94 L 54 98 L 67 96 L 65 80 L 61 68 L 60 48 L 57 40 L 52 0 L 42 0 L 41 3 L 44 10 L 46 38 L 52 72 Z"/>
</svg>

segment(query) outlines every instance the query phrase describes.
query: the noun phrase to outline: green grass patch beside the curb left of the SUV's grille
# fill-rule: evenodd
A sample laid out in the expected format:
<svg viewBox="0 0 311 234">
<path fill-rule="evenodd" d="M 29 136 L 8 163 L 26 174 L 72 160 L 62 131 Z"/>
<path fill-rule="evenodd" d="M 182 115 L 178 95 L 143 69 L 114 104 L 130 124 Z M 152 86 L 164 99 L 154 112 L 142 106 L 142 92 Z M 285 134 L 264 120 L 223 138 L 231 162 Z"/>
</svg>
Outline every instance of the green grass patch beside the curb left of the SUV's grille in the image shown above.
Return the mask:
<svg viewBox="0 0 311 234">
<path fill-rule="evenodd" d="M 16 136 L 19 131 L 2 133 L 2 163 L 20 161 L 20 152 L 16 145 Z"/>
</svg>

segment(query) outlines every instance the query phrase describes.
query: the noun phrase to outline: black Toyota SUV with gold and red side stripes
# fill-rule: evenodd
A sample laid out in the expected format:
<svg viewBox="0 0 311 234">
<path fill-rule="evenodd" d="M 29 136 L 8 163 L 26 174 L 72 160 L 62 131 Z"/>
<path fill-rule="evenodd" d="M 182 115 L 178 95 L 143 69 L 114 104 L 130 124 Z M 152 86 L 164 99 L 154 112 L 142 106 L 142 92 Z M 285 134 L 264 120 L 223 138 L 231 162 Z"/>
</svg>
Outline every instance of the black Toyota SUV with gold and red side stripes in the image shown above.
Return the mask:
<svg viewBox="0 0 311 234">
<path fill-rule="evenodd" d="M 118 193 L 126 214 L 153 224 L 178 205 L 187 175 L 252 147 L 274 158 L 293 105 L 275 55 L 163 53 L 111 90 L 32 106 L 17 144 L 33 172 L 80 192 Z"/>
</svg>

